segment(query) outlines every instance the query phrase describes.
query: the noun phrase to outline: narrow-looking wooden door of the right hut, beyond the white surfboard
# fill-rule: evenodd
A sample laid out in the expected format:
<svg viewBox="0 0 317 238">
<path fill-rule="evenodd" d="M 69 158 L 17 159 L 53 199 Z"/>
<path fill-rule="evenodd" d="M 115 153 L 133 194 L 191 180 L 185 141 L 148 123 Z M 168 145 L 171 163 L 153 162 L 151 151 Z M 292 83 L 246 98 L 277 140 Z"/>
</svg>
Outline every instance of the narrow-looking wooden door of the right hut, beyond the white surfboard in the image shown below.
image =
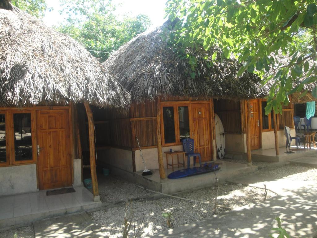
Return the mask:
<svg viewBox="0 0 317 238">
<path fill-rule="evenodd" d="M 259 100 L 250 100 L 250 110 L 251 110 L 251 149 L 260 149 L 260 113 L 259 113 Z"/>
</svg>

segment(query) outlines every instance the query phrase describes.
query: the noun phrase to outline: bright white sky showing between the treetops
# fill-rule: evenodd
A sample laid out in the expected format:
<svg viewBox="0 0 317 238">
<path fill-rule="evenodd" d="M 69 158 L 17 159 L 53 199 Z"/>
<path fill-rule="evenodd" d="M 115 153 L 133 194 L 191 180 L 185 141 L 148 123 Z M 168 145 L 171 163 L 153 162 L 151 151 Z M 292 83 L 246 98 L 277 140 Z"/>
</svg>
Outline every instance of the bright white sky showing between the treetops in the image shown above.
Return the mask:
<svg viewBox="0 0 317 238">
<path fill-rule="evenodd" d="M 152 26 L 151 28 L 162 25 L 166 20 L 165 15 L 165 2 L 167 0 L 113 0 L 113 3 L 119 3 L 121 6 L 117 7 L 117 14 L 124 14 L 131 12 L 132 15 L 146 14 L 150 17 Z M 43 21 L 47 26 L 58 25 L 65 21 L 66 16 L 59 13 L 61 10 L 59 0 L 46 0 L 47 6 L 52 7 L 51 12 L 47 11 Z"/>
</svg>

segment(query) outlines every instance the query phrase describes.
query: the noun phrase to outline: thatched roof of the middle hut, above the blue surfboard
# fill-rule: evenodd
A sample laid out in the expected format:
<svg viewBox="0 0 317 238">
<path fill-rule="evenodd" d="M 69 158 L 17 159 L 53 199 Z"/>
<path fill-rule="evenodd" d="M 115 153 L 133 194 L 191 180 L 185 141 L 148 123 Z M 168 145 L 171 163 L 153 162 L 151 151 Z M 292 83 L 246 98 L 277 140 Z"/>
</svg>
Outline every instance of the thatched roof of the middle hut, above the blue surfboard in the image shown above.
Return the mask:
<svg viewBox="0 0 317 238">
<path fill-rule="evenodd" d="M 133 101 L 142 102 L 157 96 L 218 97 L 230 99 L 261 98 L 268 88 L 261 88 L 260 78 L 244 72 L 237 77 L 241 65 L 234 59 L 221 62 L 219 49 L 193 52 L 198 59 L 195 79 L 186 59 L 180 59 L 168 45 L 168 21 L 152 32 L 133 38 L 117 50 L 105 64 L 131 93 Z M 165 35 L 165 36 L 164 36 Z M 217 51 L 217 62 L 209 67 L 211 55 Z"/>
</svg>

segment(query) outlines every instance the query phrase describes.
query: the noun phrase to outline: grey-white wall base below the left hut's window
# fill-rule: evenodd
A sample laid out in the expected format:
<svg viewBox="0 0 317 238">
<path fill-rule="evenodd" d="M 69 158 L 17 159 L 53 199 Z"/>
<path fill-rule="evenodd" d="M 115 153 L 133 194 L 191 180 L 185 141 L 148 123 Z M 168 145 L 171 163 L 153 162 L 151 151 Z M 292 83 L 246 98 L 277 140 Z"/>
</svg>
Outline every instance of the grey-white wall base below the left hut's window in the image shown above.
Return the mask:
<svg viewBox="0 0 317 238">
<path fill-rule="evenodd" d="M 36 164 L 0 167 L 0 196 L 37 191 Z"/>
</svg>

